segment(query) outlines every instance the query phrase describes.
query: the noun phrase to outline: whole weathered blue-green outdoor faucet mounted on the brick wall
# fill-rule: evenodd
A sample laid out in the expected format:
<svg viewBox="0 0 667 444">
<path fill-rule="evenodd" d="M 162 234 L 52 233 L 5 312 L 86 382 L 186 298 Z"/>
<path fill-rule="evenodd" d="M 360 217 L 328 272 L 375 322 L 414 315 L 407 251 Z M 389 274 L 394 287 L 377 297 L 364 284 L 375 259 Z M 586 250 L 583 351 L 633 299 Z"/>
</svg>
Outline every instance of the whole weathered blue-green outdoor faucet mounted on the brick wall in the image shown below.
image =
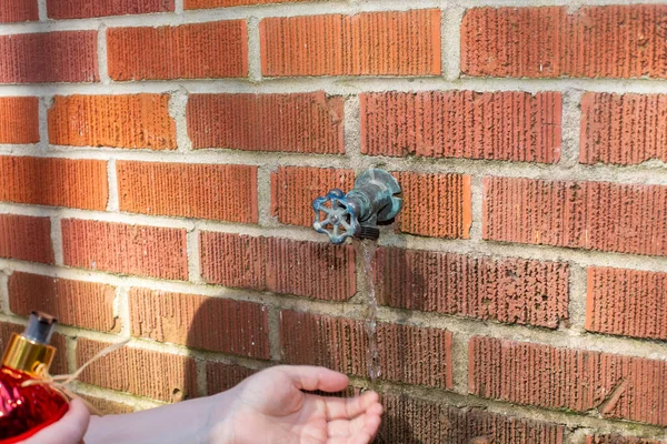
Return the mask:
<svg viewBox="0 0 667 444">
<path fill-rule="evenodd" d="M 385 170 L 366 170 L 349 193 L 334 189 L 312 201 L 312 228 L 327 234 L 336 245 L 352 236 L 375 241 L 380 236 L 378 222 L 390 221 L 400 211 L 399 193 L 400 185 L 394 175 Z"/>
</svg>

